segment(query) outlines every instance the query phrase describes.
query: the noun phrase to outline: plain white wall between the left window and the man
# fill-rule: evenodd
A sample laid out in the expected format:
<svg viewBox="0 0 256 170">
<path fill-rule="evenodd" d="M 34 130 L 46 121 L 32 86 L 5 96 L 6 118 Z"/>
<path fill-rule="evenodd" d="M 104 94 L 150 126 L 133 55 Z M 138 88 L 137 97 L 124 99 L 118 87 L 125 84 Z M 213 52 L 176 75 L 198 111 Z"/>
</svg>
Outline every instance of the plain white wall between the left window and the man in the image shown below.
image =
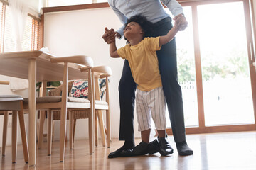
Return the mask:
<svg viewBox="0 0 256 170">
<path fill-rule="evenodd" d="M 109 55 L 109 45 L 102 39 L 104 28 L 117 29 L 121 25 L 119 18 L 110 8 L 93 10 L 68 11 L 62 13 L 46 13 L 44 46 L 50 53 L 59 57 L 69 55 L 87 55 L 92 57 L 97 65 L 108 65 L 112 68 L 110 77 L 111 100 L 111 133 L 112 137 L 119 136 L 119 92 L 118 84 L 122 74 L 124 60 L 112 59 Z M 117 47 L 125 45 L 125 40 L 117 40 Z M 136 117 L 136 116 L 135 116 Z M 137 120 L 134 120 L 137 132 Z M 55 134 L 59 132 L 55 125 Z M 78 120 L 78 130 L 75 137 L 84 138 L 88 135 L 87 120 Z M 139 137 L 139 132 L 136 133 Z"/>
</svg>

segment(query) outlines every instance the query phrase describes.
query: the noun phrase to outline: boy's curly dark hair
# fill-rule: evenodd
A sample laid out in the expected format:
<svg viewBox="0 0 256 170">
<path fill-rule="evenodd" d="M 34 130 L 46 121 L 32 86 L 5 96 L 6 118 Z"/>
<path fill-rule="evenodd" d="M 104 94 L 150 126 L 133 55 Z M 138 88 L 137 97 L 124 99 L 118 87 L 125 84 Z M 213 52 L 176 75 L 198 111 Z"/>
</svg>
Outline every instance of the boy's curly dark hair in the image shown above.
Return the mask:
<svg viewBox="0 0 256 170">
<path fill-rule="evenodd" d="M 138 23 L 139 26 L 141 26 L 142 30 L 144 31 L 143 38 L 151 37 L 152 36 L 152 33 L 153 33 L 153 23 L 148 21 L 146 19 L 146 17 L 140 16 L 140 15 L 132 16 L 131 18 L 129 18 L 127 20 L 127 23 L 125 23 L 124 29 L 127 27 L 128 23 L 131 23 L 131 22 Z M 127 40 L 127 39 L 125 38 L 125 40 Z"/>
</svg>

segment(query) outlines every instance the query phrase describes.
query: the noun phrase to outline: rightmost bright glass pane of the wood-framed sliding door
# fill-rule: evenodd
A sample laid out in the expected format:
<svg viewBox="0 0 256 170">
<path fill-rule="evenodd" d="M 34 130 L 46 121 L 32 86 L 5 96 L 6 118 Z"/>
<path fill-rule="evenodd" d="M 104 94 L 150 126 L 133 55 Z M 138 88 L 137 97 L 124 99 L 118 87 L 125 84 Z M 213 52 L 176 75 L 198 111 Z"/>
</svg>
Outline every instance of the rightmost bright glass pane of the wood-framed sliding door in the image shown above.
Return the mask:
<svg viewBox="0 0 256 170">
<path fill-rule="evenodd" d="M 255 123 L 242 1 L 197 11 L 206 126 Z"/>
</svg>

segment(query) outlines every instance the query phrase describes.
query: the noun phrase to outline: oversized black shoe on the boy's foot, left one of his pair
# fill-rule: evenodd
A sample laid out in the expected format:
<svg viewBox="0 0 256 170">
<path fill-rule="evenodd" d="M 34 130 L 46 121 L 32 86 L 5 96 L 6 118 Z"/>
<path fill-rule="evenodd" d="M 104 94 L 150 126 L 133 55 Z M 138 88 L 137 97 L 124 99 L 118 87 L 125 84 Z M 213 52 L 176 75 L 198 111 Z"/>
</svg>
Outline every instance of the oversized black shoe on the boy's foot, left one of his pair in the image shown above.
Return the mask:
<svg viewBox="0 0 256 170">
<path fill-rule="evenodd" d="M 149 144 L 142 141 L 139 143 L 139 145 L 134 147 L 134 149 L 123 150 L 120 154 L 122 157 L 134 157 L 134 156 L 147 154 L 148 149 L 149 149 Z"/>
</svg>

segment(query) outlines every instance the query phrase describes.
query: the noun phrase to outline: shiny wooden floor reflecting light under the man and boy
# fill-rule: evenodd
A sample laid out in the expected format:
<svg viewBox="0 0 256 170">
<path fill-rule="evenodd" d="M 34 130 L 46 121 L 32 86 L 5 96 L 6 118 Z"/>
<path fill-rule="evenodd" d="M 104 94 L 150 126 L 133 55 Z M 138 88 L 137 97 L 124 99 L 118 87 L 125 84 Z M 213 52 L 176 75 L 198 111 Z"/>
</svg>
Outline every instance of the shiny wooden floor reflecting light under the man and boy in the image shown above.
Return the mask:
<svg viewBox="0 0 256 170">
<path fill-rule="evenodd" d="M 4 169 L 256 169 L 256 131 L 230 132 L 203 135 L 187 135 L 189 146 L 194 150 L 192 156 L 178 156 L 172 136 L 169 136 L 174 154 L 167 157 L 153 154 L 142 157 L 119 157 L 108 159 L 107 155 L 122 146 L 123 142 L 112 140 L 111 148 L 100 145 L 95 153 L 89 154 L 88 142 L 76 140 L 73 150 L 66 147 L 65 162 L 59 162 L 58 142 L 53 142 L 53 154 L 47 156 L 46 142 L 38 150 L 36 167 L 23 162 L 21 146 L 18 146 L 17 163 L 11 164 L 11 147 L 6 148 L 6 156 L 1 158 Z M 138 144 L 139 139 L 136 140 Z"/>
</svg>

